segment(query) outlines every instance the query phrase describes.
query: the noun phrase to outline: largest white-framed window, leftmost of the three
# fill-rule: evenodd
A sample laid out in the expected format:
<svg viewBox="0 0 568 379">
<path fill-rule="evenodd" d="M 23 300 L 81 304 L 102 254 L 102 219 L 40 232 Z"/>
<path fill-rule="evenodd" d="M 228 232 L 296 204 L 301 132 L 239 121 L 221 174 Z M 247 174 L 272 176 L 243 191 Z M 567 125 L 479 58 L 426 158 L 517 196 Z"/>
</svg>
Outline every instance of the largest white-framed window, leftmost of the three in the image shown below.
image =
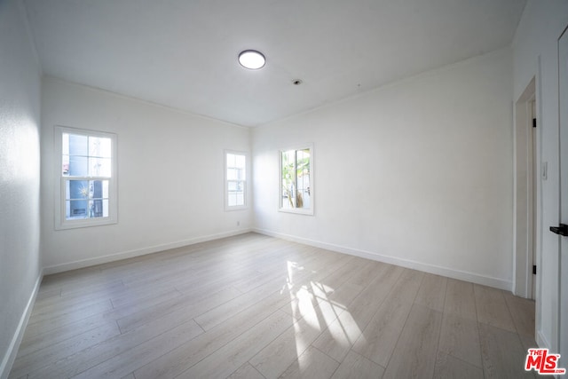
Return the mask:
<svg viewBox="0 0 568 379">
<path fill-rule="evenodd" d="M 56 229 L 116 222 L 116 135 L 56 127 Z"/>
</svg>

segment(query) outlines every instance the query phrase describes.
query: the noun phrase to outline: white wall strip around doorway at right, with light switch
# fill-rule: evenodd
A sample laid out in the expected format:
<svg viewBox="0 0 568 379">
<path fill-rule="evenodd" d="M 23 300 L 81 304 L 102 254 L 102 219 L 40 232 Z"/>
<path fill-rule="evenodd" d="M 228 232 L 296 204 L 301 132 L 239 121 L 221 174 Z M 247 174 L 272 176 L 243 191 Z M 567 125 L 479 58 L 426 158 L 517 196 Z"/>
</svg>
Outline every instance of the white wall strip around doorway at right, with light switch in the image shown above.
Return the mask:
<svg viewBox="0 0 568 379">
<path fill-rule="evenodd" d="M 537 284 L 537 342 L 558 351 L 558 236 L 548 226 L 559 220 L 558 53 L 557 40 L 568 25 L 568 2 L 533 1 L 526 4 L 513 42 L 513 96 L 517 100 L 536 77 L 538 154 L 548 164 L 548 179 L 540 184 Z M 539 175 L 541 171 L 539 170 Z M 568 338 L 568 336 L 564 336 Z"/>
</svg>

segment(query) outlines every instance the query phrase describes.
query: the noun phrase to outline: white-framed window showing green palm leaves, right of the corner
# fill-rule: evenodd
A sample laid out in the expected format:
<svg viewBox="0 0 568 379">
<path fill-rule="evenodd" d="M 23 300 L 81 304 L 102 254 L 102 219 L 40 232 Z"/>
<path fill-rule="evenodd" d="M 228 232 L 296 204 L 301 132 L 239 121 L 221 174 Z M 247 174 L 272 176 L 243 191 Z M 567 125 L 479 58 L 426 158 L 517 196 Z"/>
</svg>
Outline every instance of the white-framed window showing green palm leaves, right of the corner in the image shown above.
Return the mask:
<svg viewBox="0 0 568 379">
<path fill-rule="evenodd" d="M 280 151 L 280 210 L 313 215 L 313 147 Z"/>
</svg>

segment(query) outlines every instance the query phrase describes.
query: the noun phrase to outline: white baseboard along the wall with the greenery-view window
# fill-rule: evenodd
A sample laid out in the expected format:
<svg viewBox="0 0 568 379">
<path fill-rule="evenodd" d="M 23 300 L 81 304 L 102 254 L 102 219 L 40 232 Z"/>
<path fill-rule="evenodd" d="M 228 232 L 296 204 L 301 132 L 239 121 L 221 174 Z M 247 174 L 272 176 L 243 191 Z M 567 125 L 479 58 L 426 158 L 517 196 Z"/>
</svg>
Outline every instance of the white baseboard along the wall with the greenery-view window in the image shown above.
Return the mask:
<svg viewBox="0 0 568 379">
<path fill-rule="evenodd" d="M 277 237 L 282 240 L 294 241 L 298 243 L 303 243 L 304 245 L 310 245 L 316 248 L 327 249 L 336 251 L 338 253 L 349 254 L 351 256 L 363 257 L 378 262 L 387 263 L 390 265 L 399 265 L 406 268 L 411 268 L 414 270 L 419 270 L 422 272 L 430 272 L 437 275 L 443 275 L 448 278 L 465 280 L 471 283 L 481 284 L 488 287 L 504 289 L 511 291 L 513 289 L 513 283 L 511 280 L 502 280 L 499 278 L 493 278 L 490 276 L 480 275 L 474 272 L 465 272 L 460 270 L 454 270 L 448 267 L 429 265 L 422 262 L 416 262 L 409 259 L 401 259 L 398 257 L 384 256 L 382 254 L 377 254 L 367 250 L 352 249 L 345 246 L 335 245 L 333 243 L 327 243 L 322 241 L 314 241 L 303 237 L 297 237 L 295 235 L 273 232 L 266 229 L 252 228 L 253 232 L 268 235 L 271 237 Z"/>
</svg>

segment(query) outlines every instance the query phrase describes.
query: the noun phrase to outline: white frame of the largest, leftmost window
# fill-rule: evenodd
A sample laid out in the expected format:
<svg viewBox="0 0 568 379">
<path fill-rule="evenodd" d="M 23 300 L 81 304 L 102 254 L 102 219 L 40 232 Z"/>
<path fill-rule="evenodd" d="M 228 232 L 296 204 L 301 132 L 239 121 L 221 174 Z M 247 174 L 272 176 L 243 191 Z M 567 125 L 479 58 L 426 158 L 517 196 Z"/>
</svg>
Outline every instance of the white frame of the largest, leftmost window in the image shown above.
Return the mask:
<svg viewBox="0 0 568 379">
<path fill-rule="evenodd" d="M 73 177 L 62 175 L 63 167 L 63 134 L 78 134 L 91 137 L 110 138 L 111 140 L 111 176 L 110 177 L 78 177 L 83 180 L 108 180 L 108 217 L 92 217 L 67 220 L 66 217 L 66 182 Z M 118 222 L 118 164 L 117 164 L 117 136 L 97 130 L 85 130 L 67 126 L 55 126 L 54 133 L 54 162 L 55 162 L 55 230 L 75 229 L 81 227 L 111 225 Z M 76 178 L 75 178 L 76 179 Z"/>
</svg>

